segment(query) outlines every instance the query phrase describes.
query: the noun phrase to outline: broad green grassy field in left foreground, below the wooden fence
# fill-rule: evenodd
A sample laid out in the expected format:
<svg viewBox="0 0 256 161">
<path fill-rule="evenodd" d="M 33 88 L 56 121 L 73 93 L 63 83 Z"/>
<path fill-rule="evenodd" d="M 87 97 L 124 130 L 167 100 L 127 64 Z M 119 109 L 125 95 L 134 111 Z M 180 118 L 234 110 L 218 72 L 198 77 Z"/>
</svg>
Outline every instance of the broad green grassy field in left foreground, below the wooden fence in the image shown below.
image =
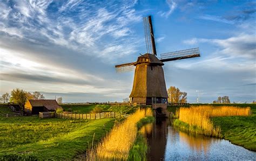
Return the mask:
<svg viewBox="0 0 256 161">
<path fill-rule="evenodd" d="M 0 117 L 0 159 L 36 153 L 40 160 L 69 160 L 85 153 L 93 134 L 94 142 L 99 142 L 113 123 L 113 118 L 87 121 L 38 116 Z"/>
</svg>

